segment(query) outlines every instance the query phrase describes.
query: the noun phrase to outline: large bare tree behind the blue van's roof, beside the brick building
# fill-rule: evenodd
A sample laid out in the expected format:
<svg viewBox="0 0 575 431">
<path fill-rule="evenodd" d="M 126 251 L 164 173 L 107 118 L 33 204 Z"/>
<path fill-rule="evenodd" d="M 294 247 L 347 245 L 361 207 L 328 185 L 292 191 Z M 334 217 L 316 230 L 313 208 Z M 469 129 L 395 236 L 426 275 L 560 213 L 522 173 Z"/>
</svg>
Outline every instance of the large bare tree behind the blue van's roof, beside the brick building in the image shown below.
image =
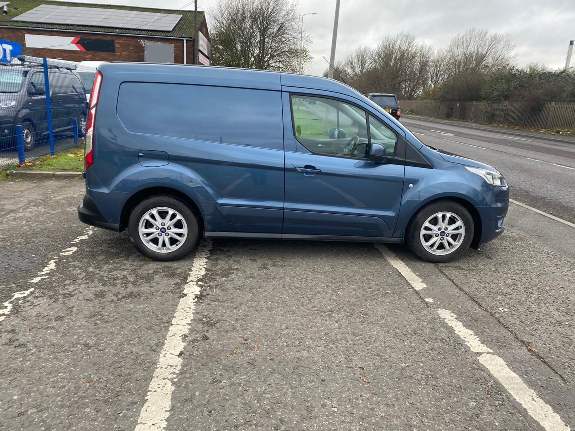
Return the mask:
<svg viewBox="0 0 575 431">
<path fill-rule="evenodd" d="M 300 14 L 289 0 L 220 0 L 212 10 L 212 56 L 217 66 L 296 72 L 300 51 Z"/>
</svg>

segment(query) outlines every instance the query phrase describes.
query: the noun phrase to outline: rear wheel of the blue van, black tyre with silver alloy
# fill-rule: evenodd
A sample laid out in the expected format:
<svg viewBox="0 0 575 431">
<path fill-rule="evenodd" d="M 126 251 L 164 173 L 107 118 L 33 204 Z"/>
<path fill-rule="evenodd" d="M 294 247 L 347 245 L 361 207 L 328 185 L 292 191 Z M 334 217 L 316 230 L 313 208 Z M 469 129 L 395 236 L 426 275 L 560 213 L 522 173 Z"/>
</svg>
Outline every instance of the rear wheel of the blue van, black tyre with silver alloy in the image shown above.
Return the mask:
<svg viewBox="0 0 575 431">
<path fill-rule="evenodd" d="M 130 214 L 132 244 L 152 260 L 178 260 L 196 247 L 198 220 L 185 202 L 171 196 L 141 201 Z"/>
</svg>

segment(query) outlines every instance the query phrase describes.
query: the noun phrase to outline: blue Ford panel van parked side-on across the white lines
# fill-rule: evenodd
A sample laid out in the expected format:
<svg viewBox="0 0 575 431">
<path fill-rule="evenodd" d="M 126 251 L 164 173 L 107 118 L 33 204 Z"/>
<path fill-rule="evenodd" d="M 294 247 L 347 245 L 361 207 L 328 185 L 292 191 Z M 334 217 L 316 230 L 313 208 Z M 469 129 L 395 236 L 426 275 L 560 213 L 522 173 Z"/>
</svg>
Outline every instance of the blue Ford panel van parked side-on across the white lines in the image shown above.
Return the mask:
<svg viewBox="0 0 575 431">
<path fill-rule="evenodd" d="M 231 237 L 405 241 L 449 261 L 502 233 L 509 202 L 495 168 L 426 147 L 351 87 L 281 72 L 103 64 L 85 160 L 80 220 L 155 260 Z"/>
</svg>

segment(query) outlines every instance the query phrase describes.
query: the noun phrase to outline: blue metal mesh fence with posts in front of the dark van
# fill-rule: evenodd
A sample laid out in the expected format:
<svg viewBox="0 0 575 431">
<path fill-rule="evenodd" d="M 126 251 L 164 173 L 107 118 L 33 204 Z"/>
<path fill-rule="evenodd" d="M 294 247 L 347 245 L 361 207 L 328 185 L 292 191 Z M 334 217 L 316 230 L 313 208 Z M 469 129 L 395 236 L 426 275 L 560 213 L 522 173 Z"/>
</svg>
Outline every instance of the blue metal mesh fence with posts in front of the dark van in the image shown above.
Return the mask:
<svg viewBox="0 0 575 431">
<path fill-rule="evenodd" d="M 77 145 L 87 111 L 73 67 L 23 57 L 0 64 L 0 169 Z"/>
</svg>

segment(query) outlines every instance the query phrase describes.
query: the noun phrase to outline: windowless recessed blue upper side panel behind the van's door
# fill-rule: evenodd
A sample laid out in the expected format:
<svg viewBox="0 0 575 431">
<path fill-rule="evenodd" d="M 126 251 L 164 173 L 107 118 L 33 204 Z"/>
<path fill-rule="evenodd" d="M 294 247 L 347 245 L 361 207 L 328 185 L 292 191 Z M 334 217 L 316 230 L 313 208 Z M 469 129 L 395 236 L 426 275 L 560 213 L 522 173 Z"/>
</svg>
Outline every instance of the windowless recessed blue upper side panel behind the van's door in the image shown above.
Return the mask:
<svg viewBox="0 0 575 431">
<path fill-rule="evenodd" d="M 133 133 L 283 149 L 279 91 L 124 82 L 117 114 Z"/>
</svg>

